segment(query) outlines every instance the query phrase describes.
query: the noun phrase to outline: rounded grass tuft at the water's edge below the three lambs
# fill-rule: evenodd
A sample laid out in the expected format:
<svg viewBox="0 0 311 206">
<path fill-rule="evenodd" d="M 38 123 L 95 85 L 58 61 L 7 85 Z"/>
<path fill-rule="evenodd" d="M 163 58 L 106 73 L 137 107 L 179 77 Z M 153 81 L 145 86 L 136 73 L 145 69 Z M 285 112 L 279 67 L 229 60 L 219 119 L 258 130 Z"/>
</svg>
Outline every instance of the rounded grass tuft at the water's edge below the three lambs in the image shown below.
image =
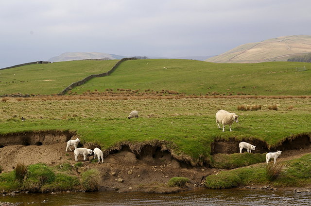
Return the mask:
<svg viewBox="0 0 311 206">
<path fill-rule="evenodd" d="M 99 183 L 101 181 L 101 175 L 98 170 L 90 169 L 82 173 L 81 185 L 86 191 L 98 190 Z"/>
</svg>

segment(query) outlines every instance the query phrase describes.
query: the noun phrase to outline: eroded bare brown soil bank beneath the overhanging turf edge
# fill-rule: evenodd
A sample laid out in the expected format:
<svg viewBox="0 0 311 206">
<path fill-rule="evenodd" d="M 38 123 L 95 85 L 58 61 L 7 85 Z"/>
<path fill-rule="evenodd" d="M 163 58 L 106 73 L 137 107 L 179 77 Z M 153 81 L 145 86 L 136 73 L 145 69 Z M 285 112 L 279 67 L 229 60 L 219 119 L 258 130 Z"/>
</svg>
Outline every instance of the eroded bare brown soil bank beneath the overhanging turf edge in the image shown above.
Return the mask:
<svg viewBox="0 0 311 206">
<path fill-rule="evenodd" d="M 56 166 L 69 162 L 74 165 L 73 151 L 65 152 L 67 141 L 75 135 L 69 131 L 25 132 L 1 135 L 0 165 L 4 172 L 13 170 L 17 162 L 35 164 L 38 162 Z M 295 155 L 311 152 L 310 136 L 300 135 L 295 139 L 287 139 L 276 148 L 268 148 L 266 143 L 259 140 L 247 141 L 257 145 L 255 153 L 265 153 L 272 149 L 282 150 L 279 158 L 293 158 Z M 84 147 L 94 149 L 99 145 L 85 143 Z M 163 187 L 168 180 L 175 176 L 190 179 L 188 189 L 201 186 L 204 177 L 216 174 L 220 170 L 204 166 L 192 166 L 189 157 L 179 157 L 166 147 L 165 141 L 145 143 L 120 143 L 109 150 L 104 150 L 104 163 L 97 161 L 79 161 L 83 166 L 100 171 L 102 181 L 100 190 L 146 191 L 146 192 L 177 192 L 178 188 Z M 216 141 L 212 144 L 212 154 L 239 152 L 238 142 Z M 243 151 L 244 152 L 244 151 Z M 89 157 L 90 159 L 92 156 Z M 97 159 L 96 159 L 97 160 Z M 161 185 L 162 184 L 162 185 Z"/>
</svg>

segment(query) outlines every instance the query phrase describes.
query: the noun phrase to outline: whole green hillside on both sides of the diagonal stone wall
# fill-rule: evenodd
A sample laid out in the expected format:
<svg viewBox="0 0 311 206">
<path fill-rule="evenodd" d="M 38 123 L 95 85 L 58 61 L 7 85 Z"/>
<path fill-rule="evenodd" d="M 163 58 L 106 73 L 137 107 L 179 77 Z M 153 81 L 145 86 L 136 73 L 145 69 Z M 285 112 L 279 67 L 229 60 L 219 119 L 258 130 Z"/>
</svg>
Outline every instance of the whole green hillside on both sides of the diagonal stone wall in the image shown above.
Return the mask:
<svg viewBox="0 0 311 206">
<path fill-rule="evenodd" d="M 71 61 L 0 70 L 0 95 L 57 94 L 72 82 L 108 71 L 117 61 Z M 306 71 L 296 71 L 296 67 L 304 66 Z M 91 79 L 72 92 L 122 88 L 172 90 L 187 95 L 311 95 L 310 79 L 311 63 L 147 59 L 125 61 L 110 76 Z"/>
</svg>

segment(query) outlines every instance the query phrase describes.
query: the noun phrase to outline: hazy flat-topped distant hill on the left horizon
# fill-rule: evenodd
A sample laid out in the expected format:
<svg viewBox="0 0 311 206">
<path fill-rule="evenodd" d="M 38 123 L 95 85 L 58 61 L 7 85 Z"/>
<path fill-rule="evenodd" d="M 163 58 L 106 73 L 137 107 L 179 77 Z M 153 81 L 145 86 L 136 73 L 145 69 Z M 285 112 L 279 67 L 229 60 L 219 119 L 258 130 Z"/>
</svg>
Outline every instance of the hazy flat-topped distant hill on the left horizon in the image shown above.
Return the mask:
<svg viewBox="0 0 311 206">
<path fill-rule="evenodd" d="M 100 52 L 66 52 L 59 56 L 52 57 L 49 62 L 66 62 L 72 60 L 84 60 L 84 59 L 106 59 L 113 60 L 118 55 L 100 53 Z M 119 56 L 118 56 L 119 57 Z"/>
</svg>

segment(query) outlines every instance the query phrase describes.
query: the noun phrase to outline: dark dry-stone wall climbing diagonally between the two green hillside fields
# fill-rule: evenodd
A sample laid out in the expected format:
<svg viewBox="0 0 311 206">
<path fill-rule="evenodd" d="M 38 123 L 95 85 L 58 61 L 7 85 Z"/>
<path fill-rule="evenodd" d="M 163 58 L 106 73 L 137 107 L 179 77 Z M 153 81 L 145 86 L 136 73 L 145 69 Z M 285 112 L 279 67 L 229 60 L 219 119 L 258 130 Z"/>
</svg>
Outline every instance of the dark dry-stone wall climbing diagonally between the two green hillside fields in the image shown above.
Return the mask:
<svg viewBox="0 0 311 206">
<path fill-rule="evenodd" d="M 59 94 L 57 95 L 65 95 L 69 90 L 73 89 L 74 87 L 77 87 L 77 86 L 80 86 L 84 83 L 86 83 L 86 81 L 90 80 L 90 79 L 93 79 L 95 77 L 105 77 L 105 76 L 108 76 L 110 75 L 112 72 L 114 72 L 114 70 L 116 70 L 116 68 L 124 61 L 127 61 L 127 60 L 137 60 L 137 58 L 123 58 L 121 59 L 119 62 L 117 62 L 109 71 L 105 72 L 105 73 L 101 73 L 101 74 L 92 74 L 92 75 L 89 75 L 88 77 L 80 80 L 80 81 L 77 81 L 77 82 L 73 82 L 72 84 L 70 84 L 68 87 L 66 87 L 63 91 L 61 91 Z"/>
</svg>

